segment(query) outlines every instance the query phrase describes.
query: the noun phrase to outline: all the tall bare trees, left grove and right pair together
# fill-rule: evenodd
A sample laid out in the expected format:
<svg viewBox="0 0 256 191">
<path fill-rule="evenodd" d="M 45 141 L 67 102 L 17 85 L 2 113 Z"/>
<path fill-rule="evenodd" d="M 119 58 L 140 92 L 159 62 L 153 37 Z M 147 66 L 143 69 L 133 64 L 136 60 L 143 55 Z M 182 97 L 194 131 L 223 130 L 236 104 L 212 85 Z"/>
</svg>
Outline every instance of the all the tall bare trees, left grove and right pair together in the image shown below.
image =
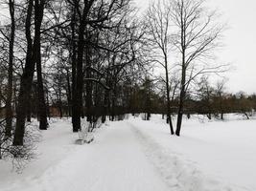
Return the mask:
<svg viewBox="0 0 256 191">
<path fill-rule="evenodd" d="M 13 145 L 23 145 L 32 116 L 46 130 L 53 106 L 78 132 L 81 117 L 105 122 L 147 110 L 150 118 L 162 104 L 179 136 L 198 78 L 226 71 L 213 61 L 223 25 L 202 0 L 159 0 L 141 19 L 130 0 L 1 3 L 9 13 L 0 27 L 0 105 Z M 156 67 L 164 73 L 153 74 Z"/>
</svg>

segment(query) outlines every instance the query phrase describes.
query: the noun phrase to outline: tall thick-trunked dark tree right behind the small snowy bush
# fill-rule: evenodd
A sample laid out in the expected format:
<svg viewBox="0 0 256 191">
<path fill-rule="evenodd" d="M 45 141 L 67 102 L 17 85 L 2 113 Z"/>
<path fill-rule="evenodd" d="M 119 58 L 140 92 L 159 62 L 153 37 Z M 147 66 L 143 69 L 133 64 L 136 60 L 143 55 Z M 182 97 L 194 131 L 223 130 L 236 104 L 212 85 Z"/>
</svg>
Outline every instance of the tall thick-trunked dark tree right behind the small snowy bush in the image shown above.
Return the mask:
<svg viewBox="0 0 256 191">
<path fill-rule="evenodd" d="M 90 29 L 105 30 L 115 28 L 115 24 L 118 21 L 122 21 L 124 17 L 119 18 L 124 8 L 129 5 L 129 0 L 112 0 L 112 1 L 97 1 L 88 0 L 79 3 L 78 1 L 69 1 L 74 11 L 77 11 L 78 15 L 78 45 L 76 50 L 76 78 L 72 97 L 72 122 L 73 131 L 77 132 L 81 129 L 81 111 L 82 111 L 82 92 L 84 86 L 83 74 L 86 74 L 87 70 L 90 70 L 90 64 L 86 63 L 90 61 L 85 53 L 89 51 L 89 44 L 91 44 L 91 35 L 89 35 Z M 125 12 L 126 13 L 126 12 Z M 124 14 L 125 14 L 124 13 Z M 113 19 L 113 20 L 112 20 Z M 117 22 L 114 20 L 117 19 Z M 86 57 L 86 59 L 84 59 Z M 84 67 L 84 66 L 89 66 Z M 99 83 L 99 80 L 89 78 L 86 80 L 95 81 Z M 87 83 L 88 84 L 88 83 Z M 89 88 L 90 89 L 90 88 Z M 91 89 L 90 89 L 91 90 Z M 87 92 L 90 92 L 87 90 Z"/>
</svg>

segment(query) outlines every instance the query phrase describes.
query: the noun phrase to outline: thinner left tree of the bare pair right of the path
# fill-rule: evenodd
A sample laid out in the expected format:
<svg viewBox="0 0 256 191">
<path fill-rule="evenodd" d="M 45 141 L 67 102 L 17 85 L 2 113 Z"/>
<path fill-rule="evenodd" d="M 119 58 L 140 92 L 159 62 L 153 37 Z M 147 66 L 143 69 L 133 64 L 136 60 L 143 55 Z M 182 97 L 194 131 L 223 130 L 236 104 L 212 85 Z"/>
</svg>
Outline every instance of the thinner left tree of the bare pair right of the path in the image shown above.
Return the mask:
<svg viewBox="0 0 256 191">
<path fill-rule="evenodd" d="M 171 134 L 174 135 L 172 117 L 171 117 L 171 98 L 170 98 L 170 82 L 169 82 L 169 53 L 170 53 L 170 4 L 165 1 L 158 1 L 151 4 L 147 11 L 147 32 L 148 40 L 151 45 L 151 53 L 153 53 L 152 61 L 163 67 L 165 71 L 165 87 L 167 97 L 167 121 L 170 124 Z"/>
</svg>

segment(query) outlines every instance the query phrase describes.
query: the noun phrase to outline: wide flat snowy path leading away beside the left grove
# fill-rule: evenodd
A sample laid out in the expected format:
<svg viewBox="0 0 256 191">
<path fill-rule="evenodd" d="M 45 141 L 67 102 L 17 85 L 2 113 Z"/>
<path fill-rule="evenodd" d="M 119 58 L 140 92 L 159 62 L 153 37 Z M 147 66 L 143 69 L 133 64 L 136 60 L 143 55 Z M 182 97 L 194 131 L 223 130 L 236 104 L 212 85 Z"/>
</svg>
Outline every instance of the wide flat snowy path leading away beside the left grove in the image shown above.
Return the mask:
<svg viewBox="0 0 256 191">
<path fill-rule="evenodd" d="M 39 177 L 0 190 L 170 190 L 142 152 L 136 132 L 127 122 L 111 123 L 101 131 L 93 143 L 77 147 Z"/>
</svg>

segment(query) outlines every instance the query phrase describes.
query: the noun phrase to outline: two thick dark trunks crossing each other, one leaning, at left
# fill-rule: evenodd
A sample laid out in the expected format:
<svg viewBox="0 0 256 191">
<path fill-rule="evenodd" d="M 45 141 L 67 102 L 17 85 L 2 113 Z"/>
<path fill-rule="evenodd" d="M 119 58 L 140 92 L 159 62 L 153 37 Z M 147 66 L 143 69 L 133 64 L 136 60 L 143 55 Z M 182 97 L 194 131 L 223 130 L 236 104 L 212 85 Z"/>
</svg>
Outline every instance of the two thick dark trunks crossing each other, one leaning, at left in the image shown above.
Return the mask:
<svg viewBox="0 0 256 191">
<path fill-rule="evenodd" d="M 44 7 L 46 5 L 45 0 L 33 0 L 33 1 L 27 1 L 28 7 L 27 7 L 27 16 L 26 16 L 26 23 L 25 23 L 25 33 L 26 33 L 26 39 L 27 39 L 27 54 L 26 54 L 26 64 L 23 74 L 21 75 L 21 82 L 20 82 L 20 92 L 18 96 L 18 105 L 17 105 L 17 111 L 16 111 L 16 128 L 14 132 L 14 138 L 13 138 L 13 145 L 23 145 L 23 138 L 24 138 L 24 132 L 25 132 L 25 118 L 26 118 L 26 112 L 28 111 L 28 106 L 30 105 L 30 95 L 32 91 L 32 83 L 35 73 L 35 64 L 37 75 L 41 75 L 40 66 L 41 66 L 41 54 L 40 54 L 40 46 L 41 46 L 41 24 L 43 20 L 43 11 Z M 35 9 L 34 9 L 35 8 Z M 32 17 L 33 17 L 33 10 L 35 12 L 35 30 L 34 30 L 34 36 L 32 36 Z M 33 39 L 34 37 L 34 39 Z M 39 94 L 43 94 L 43 87 L 41 87 L 42 84 L 42 78 L 41 76 L 37 76 L 37 91 Z M 38 82 L 39 79 L 39 82 Z M 41 81 L 40 81 L 41 80 Z M 42 96 L 40 95 L 39 102 L 42 101 Z M 40 103 L 43 104 L 43 103 Z M 45 102 L 44 102 L 45 104 Z M 39 105 L 44 107 L 41 112 L 45 112 L 44 114 L 40 113 L 40 128 L 46 129 L 47 128 L 47 118 L 46 118 L 46 106 Z M 44 111 L 43 111 L 44 110 Z"/>
</svg>

